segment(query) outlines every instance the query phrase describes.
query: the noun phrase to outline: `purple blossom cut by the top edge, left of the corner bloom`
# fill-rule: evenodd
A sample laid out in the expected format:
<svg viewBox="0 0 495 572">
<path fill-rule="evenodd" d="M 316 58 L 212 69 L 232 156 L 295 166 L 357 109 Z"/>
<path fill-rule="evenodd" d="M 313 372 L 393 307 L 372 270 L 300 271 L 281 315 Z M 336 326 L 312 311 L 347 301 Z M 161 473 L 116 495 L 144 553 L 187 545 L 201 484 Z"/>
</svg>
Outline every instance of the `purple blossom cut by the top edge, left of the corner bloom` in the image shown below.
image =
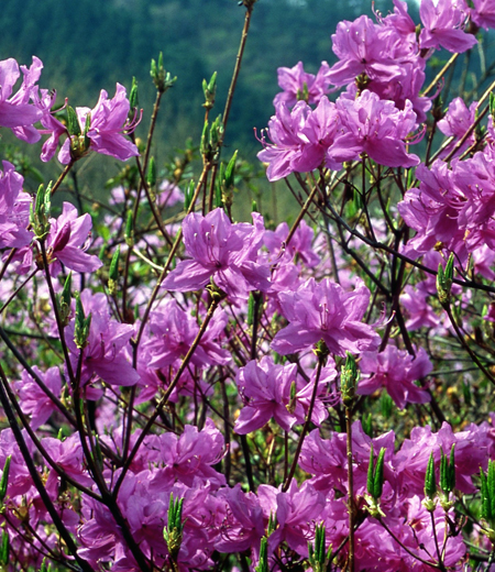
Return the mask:
<svg viewBox="0 0 495 572">
<path fill-rule="evenodd" d="M 449 52 L 465 52 L 477 40 L 463 31 L 469 12 L 464 0 L 421 0 L 419 15 L 425 28 L 419 35 L 421 48 L 444 47 Z"/>
</svg>

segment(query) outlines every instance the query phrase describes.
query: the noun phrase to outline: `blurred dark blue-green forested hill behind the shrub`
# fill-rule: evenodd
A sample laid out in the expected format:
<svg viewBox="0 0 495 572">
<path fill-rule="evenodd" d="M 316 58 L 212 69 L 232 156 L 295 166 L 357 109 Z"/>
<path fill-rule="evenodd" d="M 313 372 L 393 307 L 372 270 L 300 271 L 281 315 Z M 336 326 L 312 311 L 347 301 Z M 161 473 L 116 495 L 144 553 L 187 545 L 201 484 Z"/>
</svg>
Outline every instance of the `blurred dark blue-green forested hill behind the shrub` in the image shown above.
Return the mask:
<svg viewBox="0 0 495 572">
<path fill-rule="evenodd" d="M 377 1 L 375 8 L 388 3 Z M 116 81 L 129 88 L 135 76 L 147 107 L 150 61 L 163 51 L 165 67 L 178 77 L 160 125 L 172 148 L 191 130 L 199 138 L 201 80 L 215 70 L 221 111 L 244 11 L 235 0 L 2 0 L 0 59 L 30 64 L 37 55 L 45 65 L 40 85 L 56 88 L 73 106 L 92 107 L 101 88 L 112 96 Z M 252 128 L 265 127 L 273 112 L 276 68 L 301 59 L 311 72 L 322 59 L 333 62 L 330 35 L 337 22 L 363 11 L 371 15 L 371 0 L 260 0 L 229 140 L 254 147 Z"/>
</svg>

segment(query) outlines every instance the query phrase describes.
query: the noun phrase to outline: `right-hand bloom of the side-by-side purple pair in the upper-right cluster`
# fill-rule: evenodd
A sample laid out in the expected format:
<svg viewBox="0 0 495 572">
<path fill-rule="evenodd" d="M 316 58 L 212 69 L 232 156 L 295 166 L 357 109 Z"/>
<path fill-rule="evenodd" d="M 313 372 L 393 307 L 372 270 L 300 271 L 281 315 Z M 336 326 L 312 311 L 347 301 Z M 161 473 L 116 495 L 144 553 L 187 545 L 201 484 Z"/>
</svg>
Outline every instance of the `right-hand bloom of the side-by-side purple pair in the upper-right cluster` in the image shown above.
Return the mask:
<svg viewBox="0 0 495 572">
<path fill-rule="evenodd" d="M 354 161 L 366 153 L 387 167 L 413 167 L 417 155 L 406 153 L 406 138 L 416 129 L 416 113 L 410 101 L 399 111 L 393 101 L 384 101 L 365 89 L 358 99 L 340 97 L 337 110 L 342 123 L 328 158 L 334 162 Z"/>
</svg>

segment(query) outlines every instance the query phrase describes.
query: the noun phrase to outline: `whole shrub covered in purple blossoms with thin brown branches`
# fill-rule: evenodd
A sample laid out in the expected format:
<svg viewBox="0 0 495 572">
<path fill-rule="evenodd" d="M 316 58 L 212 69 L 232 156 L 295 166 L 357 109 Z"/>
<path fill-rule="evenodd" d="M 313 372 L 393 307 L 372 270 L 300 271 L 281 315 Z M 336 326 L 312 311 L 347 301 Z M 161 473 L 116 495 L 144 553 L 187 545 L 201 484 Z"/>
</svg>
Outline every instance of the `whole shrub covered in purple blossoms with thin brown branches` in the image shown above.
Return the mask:
<svg viewBox="0 0 495 572">
<path fill-rule="evenodd" d="M 233 220 L 221 157 L 241 4 L 223 114 L 215 75 L 173 169 L 162 57 L 145 144 L 135 84 L 55 112 L 38 58 L 0 62 L 0 125 L 63 165 L 35 196 L 0 173 L 0 568 L 495 570 L 495 96 L 441 99 L 493 2 L 417 24 L 394 0 L 317 75 L 278 69 L 258 158 L 300 210 L 277 227 Z M 52 204 L 90 153 L 127 162 L 99 224 Z"/>
</svg>

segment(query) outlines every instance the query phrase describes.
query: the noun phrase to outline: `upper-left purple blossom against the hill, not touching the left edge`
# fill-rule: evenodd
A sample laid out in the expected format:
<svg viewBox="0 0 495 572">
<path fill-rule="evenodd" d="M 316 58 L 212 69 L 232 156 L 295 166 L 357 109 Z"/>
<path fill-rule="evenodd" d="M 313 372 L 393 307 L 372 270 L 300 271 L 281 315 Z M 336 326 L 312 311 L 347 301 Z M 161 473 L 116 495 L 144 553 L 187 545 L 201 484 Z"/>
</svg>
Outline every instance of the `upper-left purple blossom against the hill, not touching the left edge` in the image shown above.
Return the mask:
<svg viewBox="0 0 495 572">
<path fill-rule="evenodd" d="M 105 89 L 100 92 L 100 99 L 94 109 L 76 108 L 77 119 L 81 133 L 86 132 L 86 119 L 89 116 L 89 130 L 86 136 L 90 141 L 89 148 L 103 155 L 125 161 L 140 154 L 138 147 L 124 134 L 132 133 L 139 121 L 129 122 L 130 103 L 127 98 L 125 88 L 117 84 L 116 95 L 108 99 Z M 82 136 L 82 135 L 80 135 Z M 58 161 L 66 165 L 70 162 L 73 135 L 62 145 Z"/>
</svg>

